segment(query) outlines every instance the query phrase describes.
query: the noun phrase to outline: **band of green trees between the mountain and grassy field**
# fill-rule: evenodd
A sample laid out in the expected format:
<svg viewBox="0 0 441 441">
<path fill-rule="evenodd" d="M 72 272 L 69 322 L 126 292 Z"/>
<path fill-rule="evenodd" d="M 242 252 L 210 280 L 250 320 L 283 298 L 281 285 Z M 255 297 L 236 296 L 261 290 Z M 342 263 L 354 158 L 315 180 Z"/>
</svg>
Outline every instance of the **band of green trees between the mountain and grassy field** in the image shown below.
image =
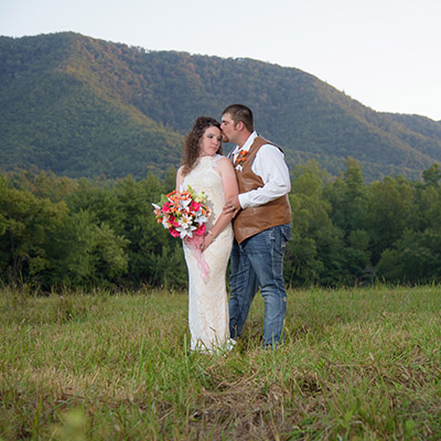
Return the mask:
<svg viewBox="0 0 441 441">
<path fill-rule="evenodd" d="M 183 289 L 180 239 L 158 225 L 151 203 L 174 189 L 175 169 L 106 179 L 45 172 L 0 175 L 0 280 L 43 291 L 140 286 Z M 438 283 L 441 280 L 441 170 L 422 180 L 366 184 L 359 163 L 332 178 L 318 162 L 293 171 L 291 287 Z"/>
</svg>

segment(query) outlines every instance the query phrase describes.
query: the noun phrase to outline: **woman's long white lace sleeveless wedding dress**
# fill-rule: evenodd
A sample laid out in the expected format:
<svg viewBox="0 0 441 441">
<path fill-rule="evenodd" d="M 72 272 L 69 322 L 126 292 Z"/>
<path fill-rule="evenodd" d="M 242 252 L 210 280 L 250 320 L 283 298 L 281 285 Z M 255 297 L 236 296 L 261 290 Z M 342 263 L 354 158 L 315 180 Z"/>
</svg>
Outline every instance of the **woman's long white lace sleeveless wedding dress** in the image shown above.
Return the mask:
<svg viewBox="0 0 441 441">
<path fill-rule="evenodd" d="M 196 193 L 205 192 L 211 209 L 207 229 L 222 213 L 225 197 L 222 179 L 216 171 L 216 161 L 222 158 L 201 157 L 196 166 L 184 178 L 183 190 L 190 185 Z M 201 352 L 229 351 L 234 341 L 229 338 L 228 302 L 226 292 L 226 268 L 233 245 L 233 228 L 227 225 L 203 252 L 209 267 L 205 279 L 193 251 L 185 245 L 185 261 L 189 268 L 189 324 L 191 349 Z"/>
</svg>

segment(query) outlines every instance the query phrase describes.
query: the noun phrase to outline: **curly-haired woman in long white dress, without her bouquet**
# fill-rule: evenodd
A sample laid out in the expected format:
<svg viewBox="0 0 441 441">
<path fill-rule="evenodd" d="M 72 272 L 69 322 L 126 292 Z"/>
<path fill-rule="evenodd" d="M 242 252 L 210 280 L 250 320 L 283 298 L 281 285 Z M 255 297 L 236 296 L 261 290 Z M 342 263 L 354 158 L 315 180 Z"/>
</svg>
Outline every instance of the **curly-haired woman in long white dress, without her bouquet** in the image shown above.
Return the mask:
<svg viewBox="0 0 441 441">
<path fill-rule="evenodd" d="M 176 191 L 189 186 L 204 192 L 211 209 L 201 244 L 202 258 L 208 267 L 203 273 L 197 256 L 184 239 L 189 268 L 189 324 L 191 349 L 216 352 L 229 349 L 226 269 L 233 246 L 233 214 L 223 213 L 225 201 L 238 193 L 232 162 L 220 155 L 220 125 L 214 118 L 200 117 L 186 136 L 182 166 L 176 175 Z"/>
</svg>

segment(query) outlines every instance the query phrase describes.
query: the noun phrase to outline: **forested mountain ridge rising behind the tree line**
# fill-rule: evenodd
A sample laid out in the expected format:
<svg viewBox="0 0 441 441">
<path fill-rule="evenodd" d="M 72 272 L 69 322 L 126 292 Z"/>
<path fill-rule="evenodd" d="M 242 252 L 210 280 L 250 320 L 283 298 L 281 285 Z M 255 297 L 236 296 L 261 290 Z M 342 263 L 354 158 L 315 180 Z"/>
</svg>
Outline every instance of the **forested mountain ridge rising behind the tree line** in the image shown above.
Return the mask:
<svg viewBox="0 0 441 441">
<path fill-rule="evenodd" d="M 142 178 L 176 168 L 200 115 L 255 112 L 292 170 L 332 174 L 352 157 L 368 181 L 418 179 L 441 161 L 441 122 L 377 112 L 297 68 L 249 58 L 150 52 L 76 33 L 0 36 L 0 166 Z M 228 146 L 227 149 L 228 150 Z"/>
</svg>

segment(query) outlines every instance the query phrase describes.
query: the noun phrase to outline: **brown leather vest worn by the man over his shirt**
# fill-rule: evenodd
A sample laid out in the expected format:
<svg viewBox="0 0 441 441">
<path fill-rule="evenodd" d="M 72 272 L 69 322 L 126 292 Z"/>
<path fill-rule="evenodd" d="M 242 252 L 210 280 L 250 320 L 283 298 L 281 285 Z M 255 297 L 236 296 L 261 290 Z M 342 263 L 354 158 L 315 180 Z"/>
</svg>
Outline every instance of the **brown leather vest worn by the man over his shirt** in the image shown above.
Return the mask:
<svg viewBox="0 0 441 441">
<path fill-rule="evenodd" d="M 261 137 L 257 137 L 241 164 L 243 170 L 236 170 L 239 193 L 246 193 L 263 186 L 262 179 L 251 170 L 256 154 L 263 144 L 272 143 Z M 280 147 L 276 147 L 280 149 Z M 265 229 L 289 223 L 291 223 L 291 207 L 288 194 L 286 194 L 265 205 L 240 209 L 233 219 L 233 227 L 235 238 L 240 244 L 248 237 L 263 232 Z"/>
</svg>

